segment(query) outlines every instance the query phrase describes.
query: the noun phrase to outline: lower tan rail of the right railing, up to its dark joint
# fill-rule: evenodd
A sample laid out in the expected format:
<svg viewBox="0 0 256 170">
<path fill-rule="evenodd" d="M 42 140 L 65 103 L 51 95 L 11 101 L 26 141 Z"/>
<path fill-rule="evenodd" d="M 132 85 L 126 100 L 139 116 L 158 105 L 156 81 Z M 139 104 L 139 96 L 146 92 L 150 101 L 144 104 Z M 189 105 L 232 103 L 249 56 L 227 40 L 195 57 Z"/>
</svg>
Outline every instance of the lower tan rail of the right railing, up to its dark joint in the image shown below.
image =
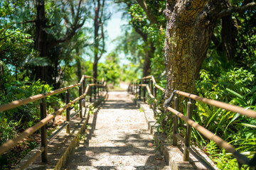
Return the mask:
<svg viewBox="0 0 256 170">
<path fill-rule="evenodd" d="M 198 130 L 198 132 L 200 132 L 203 136 L 207 137 L 208 140 L 213 140 L 218 146 L 224 148 L 227 152 L 230 152 L 230 153 L 235 152 L 235 148 L 233 147 L 233 145 L 230 145 L 228 142 L 225 142 L 223 139 L 221 139 L 217 135 L 214 135 L 213 132 L 210 132 L 210 130 L 203 128 L 203 126 L 201 125 L 198 125 L 198 123 L 195 123 L 193 120 L 187 118 L 185 115 L 176 111 L 174 108 L 168 107 L 167 109 L 171 111 L 171 113 L 174 113 L 175 115 L 177 115 L 182 120 L 186 121 L 188 125 L 191 125 L 193 128 Z"/>
</svg>

